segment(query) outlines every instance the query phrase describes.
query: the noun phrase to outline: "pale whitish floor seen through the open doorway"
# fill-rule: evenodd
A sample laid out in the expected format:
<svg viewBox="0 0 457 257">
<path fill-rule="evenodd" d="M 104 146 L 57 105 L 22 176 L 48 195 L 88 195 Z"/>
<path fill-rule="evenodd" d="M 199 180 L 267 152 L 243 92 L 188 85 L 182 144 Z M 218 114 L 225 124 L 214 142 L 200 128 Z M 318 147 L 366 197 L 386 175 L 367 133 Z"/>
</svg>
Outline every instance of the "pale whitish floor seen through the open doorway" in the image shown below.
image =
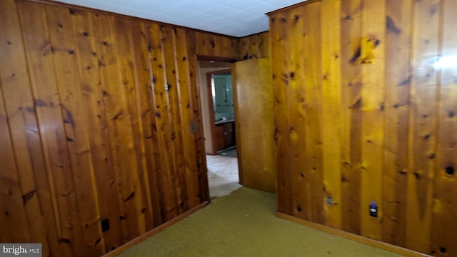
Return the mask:
<svg viewBox="0 0 457 257">
<path fill-rule="evenodd" d="M 209 196 L 225 196 L 240 188 L 238 159 L 226 156 L 206 156 L 208 166 Z"/>
</svg>

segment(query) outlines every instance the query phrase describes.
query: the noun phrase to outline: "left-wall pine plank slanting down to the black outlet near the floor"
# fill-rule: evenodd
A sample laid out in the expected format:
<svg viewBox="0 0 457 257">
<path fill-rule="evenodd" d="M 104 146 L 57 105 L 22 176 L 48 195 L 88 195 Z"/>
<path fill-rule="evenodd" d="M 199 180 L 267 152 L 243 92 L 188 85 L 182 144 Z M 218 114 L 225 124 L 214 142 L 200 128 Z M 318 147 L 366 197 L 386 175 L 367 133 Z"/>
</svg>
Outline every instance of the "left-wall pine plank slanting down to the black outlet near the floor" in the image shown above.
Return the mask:
<svg viewBox="0 0 457 257">
<path fill-rule="evenodd" d="M 121 246 L 123 233 L 119 217 L 118 192 L 114 178 L 111 143 L 107 128 L 106 111 L 101 88 L 101 69 L 104 63 L 99 59 L 101 52 L 97 44 L 104 41 L 96 25 L 99 16 L 86 11 L 74 11 L 71 15 L 74 40 L 78 54 L 79 76 L 81 78 L 82 103 L 87 106 L 87 130 L 90 131 L 89 144 L 94 166 L 94 183 L 99 197 L 100 223 L 108 223 L 109 229 L 103 231 L 105 251 Z M 95 21 L 95 22 L 94 22 Z"/>
</svg>

